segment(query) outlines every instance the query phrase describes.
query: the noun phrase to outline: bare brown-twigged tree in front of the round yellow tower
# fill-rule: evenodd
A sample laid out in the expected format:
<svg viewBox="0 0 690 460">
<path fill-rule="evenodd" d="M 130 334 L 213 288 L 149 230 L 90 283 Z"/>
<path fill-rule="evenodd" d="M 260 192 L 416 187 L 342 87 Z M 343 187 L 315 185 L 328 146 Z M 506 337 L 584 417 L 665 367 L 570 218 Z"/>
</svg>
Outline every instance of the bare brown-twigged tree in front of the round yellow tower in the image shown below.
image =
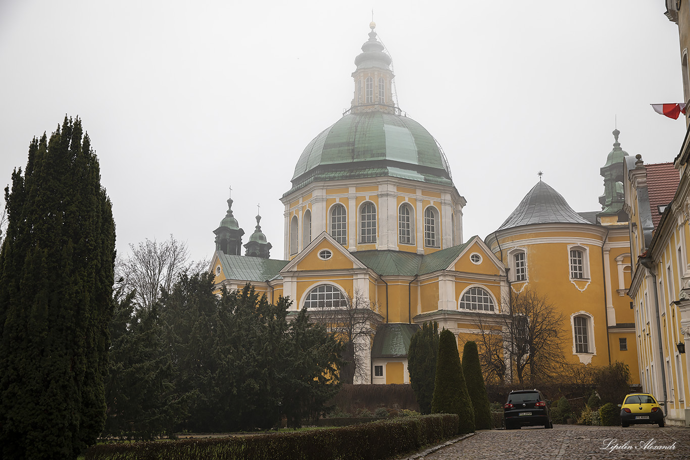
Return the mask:
<svg viewBox="0 0 690 460">
<path fill-rule="evenodd" d="M 477 313 L 475 341 L 486 381 L 550 379 L 566 365 L 565 316 L 545 294 L 526 288 L 496 315 Z"/>
</svg>

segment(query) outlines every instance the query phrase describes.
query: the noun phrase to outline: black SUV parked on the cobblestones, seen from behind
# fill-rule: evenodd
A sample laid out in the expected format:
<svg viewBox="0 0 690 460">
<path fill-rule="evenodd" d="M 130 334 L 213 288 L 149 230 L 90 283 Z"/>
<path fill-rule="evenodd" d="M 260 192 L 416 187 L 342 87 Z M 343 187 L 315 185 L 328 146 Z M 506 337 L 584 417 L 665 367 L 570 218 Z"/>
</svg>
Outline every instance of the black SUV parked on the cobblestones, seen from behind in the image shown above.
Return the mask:
<svg viewBox="0 0 690 460">
<path fill-rule="evenodd" d="M 523 426 L 553 428 L 548 403 L 539 390 L 514 390 L 503 405 L 506 430 L 518 430 Z"/>
</svg>

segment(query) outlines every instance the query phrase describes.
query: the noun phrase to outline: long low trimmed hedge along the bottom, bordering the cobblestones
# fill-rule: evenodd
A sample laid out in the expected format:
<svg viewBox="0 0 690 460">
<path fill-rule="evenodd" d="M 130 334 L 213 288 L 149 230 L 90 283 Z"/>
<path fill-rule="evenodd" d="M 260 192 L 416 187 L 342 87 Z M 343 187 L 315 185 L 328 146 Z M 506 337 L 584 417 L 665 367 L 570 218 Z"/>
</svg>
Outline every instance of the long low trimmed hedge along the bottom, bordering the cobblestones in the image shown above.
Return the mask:
<svg viewBox="0 0 690 460">
<path fill-rule="evenodd" d="M 101 444 L 85 460 L 374 460 L 399 457 L 457 435 L 457 414 L 229 438 Z"/>
</svg>

